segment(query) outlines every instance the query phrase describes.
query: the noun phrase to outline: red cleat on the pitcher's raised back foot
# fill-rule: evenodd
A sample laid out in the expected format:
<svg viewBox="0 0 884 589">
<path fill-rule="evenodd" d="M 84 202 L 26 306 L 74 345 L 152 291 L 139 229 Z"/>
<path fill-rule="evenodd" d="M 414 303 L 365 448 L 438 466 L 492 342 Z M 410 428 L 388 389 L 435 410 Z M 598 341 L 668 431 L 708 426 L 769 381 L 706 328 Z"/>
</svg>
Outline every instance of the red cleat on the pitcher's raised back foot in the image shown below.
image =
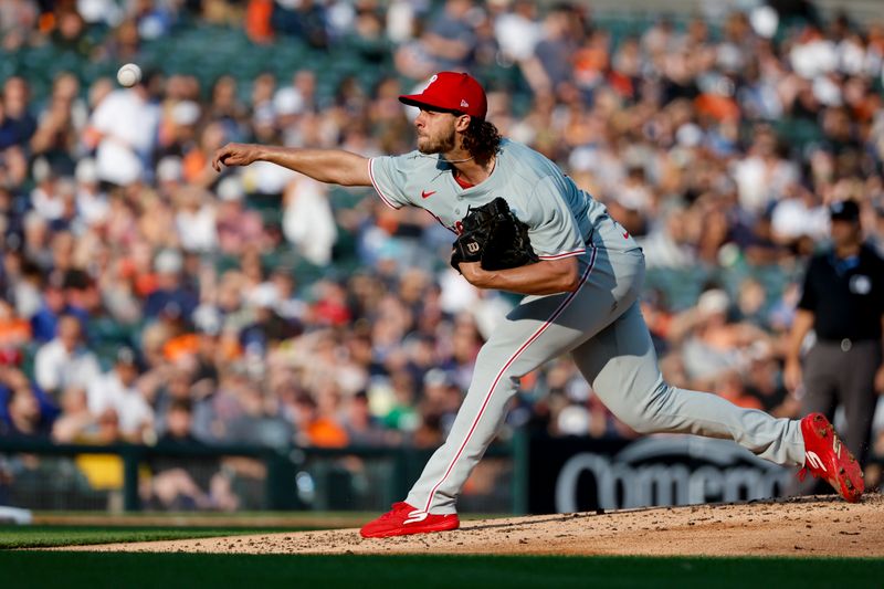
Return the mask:
<svg viewBox="0 0 884 589">
<path fill-rule="evenodd" d="M 801 420 L 804 435 L 804 467 L 798 472 L 803 481 L 808 471 L 825 480 L 844 501 L 855 503 L 865 491 L 860 463 L 841 443 L 835 429 L 822 413 L 810 413 Z"/>
</svg>

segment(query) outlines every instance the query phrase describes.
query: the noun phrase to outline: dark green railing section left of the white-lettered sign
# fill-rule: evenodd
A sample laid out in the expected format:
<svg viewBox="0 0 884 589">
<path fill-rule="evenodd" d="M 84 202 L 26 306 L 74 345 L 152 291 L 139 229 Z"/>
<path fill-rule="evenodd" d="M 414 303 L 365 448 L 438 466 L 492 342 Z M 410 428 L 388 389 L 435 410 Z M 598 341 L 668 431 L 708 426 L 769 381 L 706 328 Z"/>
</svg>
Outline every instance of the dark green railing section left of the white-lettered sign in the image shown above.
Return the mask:
<svg viewBox="0 0 884 589">
<path fill-rule="evenodd" d="M 407 445 L 97 445 L 0 439 L 0 505 L 110 512 L 219 511 L 224 505 L 239 511 L 378 511 L 407 495 L 431 453 Z M 522 435 L 493 445 L 467 484 L 464 511 L 526 513 L 526 460 Z M 225 497 L 234 497 L 235 507 Z"/>
</svg>

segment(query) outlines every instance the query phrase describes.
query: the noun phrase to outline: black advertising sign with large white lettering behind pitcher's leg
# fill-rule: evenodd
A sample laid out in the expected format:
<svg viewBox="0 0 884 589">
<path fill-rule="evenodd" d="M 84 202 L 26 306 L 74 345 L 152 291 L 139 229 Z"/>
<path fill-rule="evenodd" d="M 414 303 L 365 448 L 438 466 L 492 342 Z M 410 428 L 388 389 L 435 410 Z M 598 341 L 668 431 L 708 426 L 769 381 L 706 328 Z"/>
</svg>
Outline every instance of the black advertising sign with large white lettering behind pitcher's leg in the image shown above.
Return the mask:
<svg viewBox="0 0 884 589">
<path fill-rule="evenodd" d="M 636 441 L 538 435 L 529 452 L 532 513 L 772 498 L 794 476 L 734 442 L 691 435 Z"/>
</svg>

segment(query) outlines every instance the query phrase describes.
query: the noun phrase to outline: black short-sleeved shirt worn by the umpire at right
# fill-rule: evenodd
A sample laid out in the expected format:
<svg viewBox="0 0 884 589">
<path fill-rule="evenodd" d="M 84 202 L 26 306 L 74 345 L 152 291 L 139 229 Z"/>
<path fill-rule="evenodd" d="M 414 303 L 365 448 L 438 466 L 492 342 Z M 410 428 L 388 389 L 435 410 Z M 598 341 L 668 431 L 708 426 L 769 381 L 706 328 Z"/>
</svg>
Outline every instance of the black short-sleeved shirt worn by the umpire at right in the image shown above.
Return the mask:
<svg viewBox="0 0 884 589">
<path fill-rule="evenodd" d="M 846 259 L 832 250 L 814 255 L 798 307 L 814 314 L 813 329 L 820 339 L 880 339 L 884 260 L 865 245 Z"/>
</svg>

